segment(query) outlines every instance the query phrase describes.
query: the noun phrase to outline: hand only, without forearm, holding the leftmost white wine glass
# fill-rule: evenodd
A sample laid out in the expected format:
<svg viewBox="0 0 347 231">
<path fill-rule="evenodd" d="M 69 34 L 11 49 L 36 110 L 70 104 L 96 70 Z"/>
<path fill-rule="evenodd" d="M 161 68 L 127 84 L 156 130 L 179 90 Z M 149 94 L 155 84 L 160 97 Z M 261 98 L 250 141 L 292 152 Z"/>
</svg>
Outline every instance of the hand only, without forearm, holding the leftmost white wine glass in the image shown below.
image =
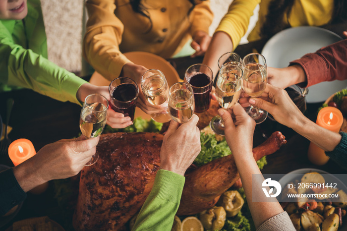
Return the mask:
<svg viewBox="0 0 347 231">
<path fill-rule="evenodd" d="M 79 173 L 95 154 L 100 137 L 62 139 L 44 146 L 28 161 L 45 181 L 63 179 Z"/>
</svg>

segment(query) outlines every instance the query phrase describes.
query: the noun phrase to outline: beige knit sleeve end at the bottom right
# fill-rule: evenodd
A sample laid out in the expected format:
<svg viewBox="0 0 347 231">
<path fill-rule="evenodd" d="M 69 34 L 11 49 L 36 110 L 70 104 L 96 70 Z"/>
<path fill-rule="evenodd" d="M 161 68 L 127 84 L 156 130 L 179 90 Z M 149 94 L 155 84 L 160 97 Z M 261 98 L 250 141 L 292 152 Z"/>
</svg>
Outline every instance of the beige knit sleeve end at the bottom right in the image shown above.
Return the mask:
<svg viewBox="0 0 347 231">
<path fill-rule="evenodd" d="M 261 224 L 257 231 L 295 231 L 287 212 L 273 216 Z"/>
</svg>

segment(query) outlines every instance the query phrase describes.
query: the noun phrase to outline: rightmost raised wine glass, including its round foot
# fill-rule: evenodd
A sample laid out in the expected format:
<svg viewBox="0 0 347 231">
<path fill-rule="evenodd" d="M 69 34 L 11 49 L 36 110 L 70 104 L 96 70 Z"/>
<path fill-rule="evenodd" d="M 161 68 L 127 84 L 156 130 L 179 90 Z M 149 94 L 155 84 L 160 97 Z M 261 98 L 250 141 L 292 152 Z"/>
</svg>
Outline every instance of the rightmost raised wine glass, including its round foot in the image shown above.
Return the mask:
<svg viewBox="0 0 347 231">
<path fill-rule="evenodd" d="M 250 97 L 256 98 L 263 94 L 267 83 L 267 67 L 265 58 L 258 53 L 246 55 L 242 60 L 243 90 Z M 268 112 L 257 107 L 245 108 L 256 124 L 263 122 Z"/>
</svg>

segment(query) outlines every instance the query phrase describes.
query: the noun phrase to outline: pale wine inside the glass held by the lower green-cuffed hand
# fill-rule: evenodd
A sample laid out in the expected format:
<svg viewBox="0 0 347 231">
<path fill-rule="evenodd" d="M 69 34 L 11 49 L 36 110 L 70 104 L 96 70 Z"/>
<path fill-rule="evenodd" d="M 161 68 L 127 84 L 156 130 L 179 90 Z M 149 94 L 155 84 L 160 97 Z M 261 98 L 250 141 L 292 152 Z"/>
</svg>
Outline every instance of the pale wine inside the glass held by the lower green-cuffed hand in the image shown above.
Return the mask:
<svg viewBox="0 0 347 231">
<path fill-rule="evenodd" d="M 171 94 L 173 99 L 169 104 L 169 111 L 173 119 L 179 123 L 188 122 L 194 114 L 194 97 L 187 89 L 177 89 Z"/>
</svg>

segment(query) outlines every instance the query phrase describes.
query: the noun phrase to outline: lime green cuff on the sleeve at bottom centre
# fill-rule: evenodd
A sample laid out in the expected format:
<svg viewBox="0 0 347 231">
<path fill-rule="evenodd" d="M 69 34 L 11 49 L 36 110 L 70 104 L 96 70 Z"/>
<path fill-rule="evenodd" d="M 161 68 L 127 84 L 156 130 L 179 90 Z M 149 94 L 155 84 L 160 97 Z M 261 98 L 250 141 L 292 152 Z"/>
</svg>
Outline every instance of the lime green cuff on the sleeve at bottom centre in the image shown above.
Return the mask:
<svg viewBox="0 0 347 231">
<path fill-rule="evenodd" d="M 165 201 L 179 203 L 183 191 L 185 177 L 167 170 L 159 170 L 156 174 L 151 194 Z"/>
</svg>

